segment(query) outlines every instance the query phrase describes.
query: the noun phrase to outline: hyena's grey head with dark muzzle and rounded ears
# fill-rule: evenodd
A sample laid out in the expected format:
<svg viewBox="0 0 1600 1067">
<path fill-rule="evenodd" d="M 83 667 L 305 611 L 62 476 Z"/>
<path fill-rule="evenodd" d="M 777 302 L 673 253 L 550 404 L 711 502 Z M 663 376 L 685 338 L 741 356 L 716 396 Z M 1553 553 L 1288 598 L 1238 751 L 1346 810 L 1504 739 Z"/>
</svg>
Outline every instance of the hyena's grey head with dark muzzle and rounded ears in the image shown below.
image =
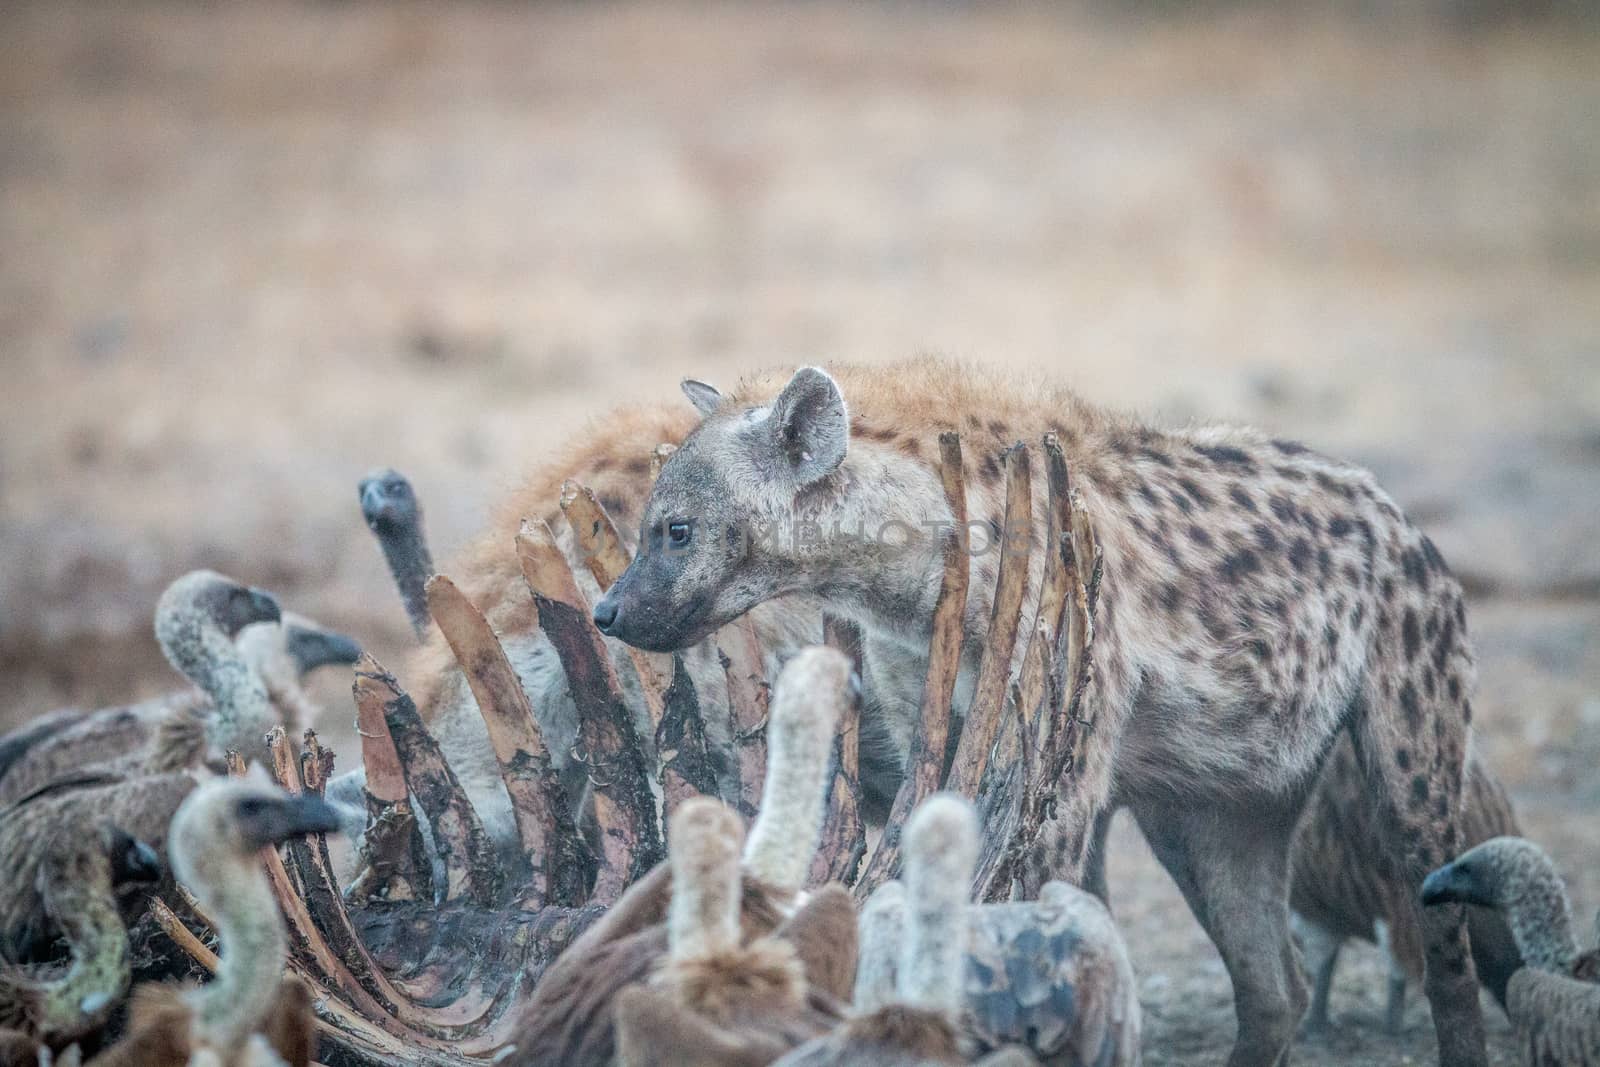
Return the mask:
<svg viewBox="0 0 1600 1067">
<path fill-rule="evenodd" d="M 602 633 L 650 651 L 694 645 L 803 585 L 773 542 L 850 443 L 845 398 L 814 366 L 795 371 L 771 403 L 733 403 L 694 381 L 683 392 L 706 418 L 662 464 L 638 555 L 595 605 Z"/>
</svg>

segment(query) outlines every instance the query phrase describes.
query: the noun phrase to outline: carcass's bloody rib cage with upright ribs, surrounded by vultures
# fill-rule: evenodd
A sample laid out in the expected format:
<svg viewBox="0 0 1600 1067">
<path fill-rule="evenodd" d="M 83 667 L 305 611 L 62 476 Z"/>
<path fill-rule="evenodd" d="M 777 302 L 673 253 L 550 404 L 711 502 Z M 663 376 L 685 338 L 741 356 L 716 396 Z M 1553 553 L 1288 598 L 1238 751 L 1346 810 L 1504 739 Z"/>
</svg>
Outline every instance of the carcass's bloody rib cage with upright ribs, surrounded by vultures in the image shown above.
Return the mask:
<svg viewBox="0 0 1600 1067">
<path fill-rule="evenodd" d="M 958 514 L 965 502 L 960 437 L 941 435 L 939 450 L 944 491 Z M 970 581 L 966 545 L 960 541 L 963 526 L 957 525 L 942 545 L 944 574 L 922 736 L 894 798 L 894 816 L 869 851 L 859 816 L 853 729 L 858 709 L 843 709 L 813 883 L 840 880 L 864 899 L 898 873 L 898 827 L 904 816 L 938 789 L 949 787 L 974 798 L 990 825 L 974 897 L 1010 897 L 1019 859 L 1051 817 L 1054 785 L 1070 771 L 1093 725 L 1088 653 L 1094 640 L 1099 547 L 1070 490 L 1054 435 L 1045 437 L 1040 453 L 1046 464 L 1050 530 L 1043 539 L 1048 558 L 1038 611 L 1029 625 L 1021 625 L 1026 557 L 1019 565 L 1002 566 L 994 598 L 992 632 L 1018 635 L 1016 640 L 1027 643 L 1019 677 L 1011 681 L 1005 670 L 1013 649 L 992 648 L 962 736 L 946 737 Z M 1029 450 L 1019 445 L 1006 453 L 1008 523 L 1029 518 Z M 595 574 L 614 574 L 626 566 L 624 542 L 594 494 L 568 485 L 562 498 L 565 509 L 579 509 L 586 566 Z M 1013 509 L 1021 514 L 1013 515 Z M 470 801 L 394 675 L 363 657 L 354 693 L 374 816 L 368 869 L 350 893 L 338 885 L 320 835 L 294 841 L 283 854 L 262 853 L 290 926 L 290 969 L 322 992 L 315 1011 L 323 1057 L 331 1062 L 488 1062 L 509 1038 L 515 1006 L 544 968 L 661 857 L 664 809 L 704 792 L 704 752 L 694 745 L 696 739 L 704 744 L 706 731 L 693 686 L 640 670 L 645 704 L 658 725 L 653 750 L 659 757 L 646 758 L 651 747 L 632 728 L 589 606 L 565 557 L 554 550 L 549 528 L 525 523 L 517 544 L 539 624 L 557 648 L 579 705 L 581 752 L 574 755 L 586 763 L 594 785 L 598 833 L 590 840 L 602 845 L 594 849 L 573 825 L 566 806 L 557 803 L 560 784 L 533 709 L 490 624 L 448 577 L 435 577 L 429 584 L 429 609 L 488 726 L 533 875 L 525 886 L 509 886 L 491 864 L 475 862 L 486 853 Z M 824 632 L 827 643 L 859 662 L 859 632 L 851 624 L 827 619 Z M 762 649 L 739 622 L 715 640 L 728 680 L 739 797 L 754 806 L 765 768 L 762 726 L 768 686 Z M 675 665 L 682 672 L 682 661 Z M 955 741 L 960 753 L 949 776 L 942 766 L 947 741 Z M 274 776 L 285 789 L 322 792 L 333 753 L 314 731 L 306 731 L 298 758 L 282 729 L 269 736 L 269 749 Z M 242 761 L 234 765 L 243 769 Z M 661 784 L 664 803 L 645 787 L 646 774 Z M 421 811 L 411 811 L 411 798 Z M 427 885 L 426 857 L 419 859 L 414 849 L 418 821 L 427 822 L 445 870 L 446 883 L 437 891 Z M 362 905 L 358 894 L 370 893 L 384 893 L 387 901 Z M 205 925 L 203 915 L 187 910 Z M 203 942 L 171 912 L 163 909 L 158 915 L 179 949 L 205 968 Z"/>
</svg>

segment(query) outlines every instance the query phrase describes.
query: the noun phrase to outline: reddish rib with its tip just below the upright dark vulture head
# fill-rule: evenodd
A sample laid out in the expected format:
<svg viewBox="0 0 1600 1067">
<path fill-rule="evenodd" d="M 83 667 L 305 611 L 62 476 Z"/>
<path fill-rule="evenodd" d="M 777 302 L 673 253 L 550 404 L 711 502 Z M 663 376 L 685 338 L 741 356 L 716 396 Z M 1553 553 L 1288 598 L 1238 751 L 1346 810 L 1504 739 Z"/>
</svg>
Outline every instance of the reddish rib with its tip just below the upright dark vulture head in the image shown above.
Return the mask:
<svg viewBox="0 0 1600 1067">
<path fill-rule="evenodd" d="M 506 649 L 483 614 L 443 574 L 427 582 L 427 606 L 467 677 L 488 726 L 501 781 L 510 793 L 517 833 L 531 869 L 520 904 L 525 909 L 579 904 L 589 885 L 589 854 Z M 576 686 L 573 693 L 576 696 Z"/>
</svg>

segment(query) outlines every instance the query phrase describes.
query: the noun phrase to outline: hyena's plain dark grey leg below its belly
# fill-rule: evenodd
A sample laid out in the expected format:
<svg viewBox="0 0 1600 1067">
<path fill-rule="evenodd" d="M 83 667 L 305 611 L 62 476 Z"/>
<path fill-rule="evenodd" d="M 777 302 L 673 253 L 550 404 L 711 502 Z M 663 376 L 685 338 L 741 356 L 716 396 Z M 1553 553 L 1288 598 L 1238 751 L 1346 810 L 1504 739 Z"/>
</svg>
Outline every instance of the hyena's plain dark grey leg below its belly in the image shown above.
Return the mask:
<svg viewBox="0 0 1600 1067">
<path fill-rule="evenodd" d="M 1298 813 L 1272 808 L 1133 805 L 1150 849 L 1232 981 L 1238 1037 L 1229 1067 L 1283 1067 L 1309 1000 L 1290 939 L 1290 841 Z"/>
</svg>

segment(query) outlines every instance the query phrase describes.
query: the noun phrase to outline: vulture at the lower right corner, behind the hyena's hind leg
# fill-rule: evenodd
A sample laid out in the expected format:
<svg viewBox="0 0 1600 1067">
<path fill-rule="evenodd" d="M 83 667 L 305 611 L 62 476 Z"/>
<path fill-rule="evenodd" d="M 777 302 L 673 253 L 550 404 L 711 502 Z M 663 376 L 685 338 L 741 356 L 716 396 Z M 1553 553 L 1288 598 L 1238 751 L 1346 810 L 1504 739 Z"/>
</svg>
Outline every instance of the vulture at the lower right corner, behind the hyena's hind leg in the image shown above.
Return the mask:
<svg viewBox="0 0 1600 1067">
<path fill-rule="evenodd" d="M 1600 929 L 1581 949 L 1555 864 L 1520 837 L 1467 849 L 1422 881 L 1422 904 L 1502 913 L 1525 965 L 1506 984 L 1506 1014 L 1525 1067 L 1600 1067 Z"/>
</svg>

